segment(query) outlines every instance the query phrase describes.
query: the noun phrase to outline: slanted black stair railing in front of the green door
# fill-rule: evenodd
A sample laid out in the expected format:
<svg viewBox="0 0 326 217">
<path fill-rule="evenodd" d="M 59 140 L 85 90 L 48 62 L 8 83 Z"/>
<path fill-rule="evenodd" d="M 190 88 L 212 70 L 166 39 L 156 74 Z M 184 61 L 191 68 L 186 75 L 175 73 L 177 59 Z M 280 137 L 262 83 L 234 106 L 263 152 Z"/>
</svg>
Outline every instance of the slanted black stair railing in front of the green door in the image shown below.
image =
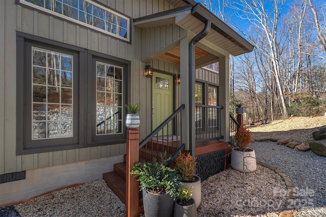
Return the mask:
<svg viewBox="0 0 326 217">
<path fill-rule="evenodd" d="M 184 104 L 140 142 L 140 161 L 145 159 L 147 162 L 152 158 L 159 158 L 159 153 L 165 151 L 167 151 L 167 158 L 171 157 L 167 165 L 169 166 L 175 161 L 179 152 L 182 151 L 185 146 L 184 143 L 181 144 L 182 109 L 184 109 Z"/>
</svg>

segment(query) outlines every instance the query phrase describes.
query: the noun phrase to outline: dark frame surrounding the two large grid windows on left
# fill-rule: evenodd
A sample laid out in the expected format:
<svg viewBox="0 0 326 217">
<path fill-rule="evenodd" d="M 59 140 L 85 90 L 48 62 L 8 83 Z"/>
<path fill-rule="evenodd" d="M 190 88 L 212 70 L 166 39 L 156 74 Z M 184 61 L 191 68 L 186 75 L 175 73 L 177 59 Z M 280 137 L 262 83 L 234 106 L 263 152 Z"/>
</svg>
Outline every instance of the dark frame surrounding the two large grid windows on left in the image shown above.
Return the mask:
<svg viewBox="0 0 326 217">
<path fill-rule="evenodd" d="M 96 87 L 94 77 L 96 78 L 96 69 L 92 67 L 93 58 L 108 61 L 117 66 L 124 68 L 123 78 L 123 104 L 127 102 L 129 96 L 127 86 L 130 82 L 127 78 L 130 76 L 131 62 L 118 57 L 90 51 L 84 48 L 73 45 L 37 37 L 34 35 L 16 32 L 17 47 L 16 47 L 16 155 L 41 153 L 58 150 L 77 149 L 84 147 L 92 147 L 99 145 L 121 144 L 126 142 L 126 128 L 124 127 L 125 117 L 122 115 L 122 134 L 119 135 L 96 135 L 95 128 L 92 126 L 95 123 L 95 115 L 92 116 L 96 101 L 94 94 Z M 32 140 L 32 113 L 31 113 L 31 55 L 29 51 L 31 47 L 40 47 L 53 51 L 68 52 L 74 55 L 74 64 L 78 69 L 76 74 L 78 78 L 74 77 L 74 102 L 73 102 L 73 139 L 71 138 L 47 138 L 41 140 Z M 75 59 L 75 57 L 77 59 Z M 77 63 L 75 63 L 77 61 Z M 30 62 L 30 63 L 28 63 Z M 94 73 L 95 70 L 95 73 Z M 75 70 L 74 70 L 75 71 Z M 30 73 L 30 75 L 28 75 Z M 75 97 L 76 95 L 76 97 Z M 92 108 L 94 107 L 94 108 Z M 26 109 L 29 108 L 29 109 Z M 125 114 L 125 109 L 122 109 Z M 27 135 L 30 134 L 30 137 Z"/>
</svg>

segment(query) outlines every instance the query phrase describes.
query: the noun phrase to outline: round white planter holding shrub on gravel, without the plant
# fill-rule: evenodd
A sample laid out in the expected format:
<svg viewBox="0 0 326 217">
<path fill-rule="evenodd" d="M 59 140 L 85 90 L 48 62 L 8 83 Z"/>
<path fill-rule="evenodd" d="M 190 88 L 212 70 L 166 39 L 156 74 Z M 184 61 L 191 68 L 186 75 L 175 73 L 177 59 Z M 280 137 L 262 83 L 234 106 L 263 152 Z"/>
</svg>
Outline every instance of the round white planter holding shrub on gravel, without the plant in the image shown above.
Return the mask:
<svg viewBox="0 0 326 217">
<path fill-rule="evenodd" d="M 257 169 L 255 151 L 251 148 L 247 148 L 247 151 L 240 151 L 238 149 L 237 147 L 232 148 L 231 167 L 237 171 L 243 172 L 244 158 L 244 172 L 254 172 Z"/>
</svg>

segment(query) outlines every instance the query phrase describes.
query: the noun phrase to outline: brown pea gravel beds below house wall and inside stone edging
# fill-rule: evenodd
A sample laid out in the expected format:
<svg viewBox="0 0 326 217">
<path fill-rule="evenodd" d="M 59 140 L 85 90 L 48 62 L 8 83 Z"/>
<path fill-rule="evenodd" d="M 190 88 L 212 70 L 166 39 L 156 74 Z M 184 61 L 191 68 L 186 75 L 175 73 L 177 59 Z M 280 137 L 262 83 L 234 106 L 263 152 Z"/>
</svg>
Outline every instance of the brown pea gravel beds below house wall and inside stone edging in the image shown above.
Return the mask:
<svg viewBox="0 0 326 217">
<path fill-rule="evenodd" d="M 257 165 L 254 173 L 227 169 L 202 183 L 199 216 L 278 216 L 283 211 L 285 183 L 266 167 Z M 7 207 L 8 208 L 8 207 Z M 17 213 L 2 216 L 125 216 L 125 205 L 107 187 L 104 180 L 94 180 L 77 187 L 52 192 L 14 206 Z M 12 210 L 14 211 L 14 210 Z"/>
</svg>

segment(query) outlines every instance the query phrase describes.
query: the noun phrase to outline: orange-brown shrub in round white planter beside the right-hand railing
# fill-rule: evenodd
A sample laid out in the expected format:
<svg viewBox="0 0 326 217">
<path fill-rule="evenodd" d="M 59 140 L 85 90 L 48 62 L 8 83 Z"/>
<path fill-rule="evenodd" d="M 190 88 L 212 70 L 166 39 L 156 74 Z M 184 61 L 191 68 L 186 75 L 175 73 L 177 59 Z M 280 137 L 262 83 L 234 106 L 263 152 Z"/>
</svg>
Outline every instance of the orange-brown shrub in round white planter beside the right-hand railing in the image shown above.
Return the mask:
<svg viewBox="0 0 326 217">
<path fill-rule="evenodd" d="M 250 130 L 240 127 L 234 135 L 236 147 L 232 148 L 231 167 L 235 170 L 243 172 L 254 172 L 257 168 L 255 151 L 249 148 L 252 142 Z"/>
</svg>

